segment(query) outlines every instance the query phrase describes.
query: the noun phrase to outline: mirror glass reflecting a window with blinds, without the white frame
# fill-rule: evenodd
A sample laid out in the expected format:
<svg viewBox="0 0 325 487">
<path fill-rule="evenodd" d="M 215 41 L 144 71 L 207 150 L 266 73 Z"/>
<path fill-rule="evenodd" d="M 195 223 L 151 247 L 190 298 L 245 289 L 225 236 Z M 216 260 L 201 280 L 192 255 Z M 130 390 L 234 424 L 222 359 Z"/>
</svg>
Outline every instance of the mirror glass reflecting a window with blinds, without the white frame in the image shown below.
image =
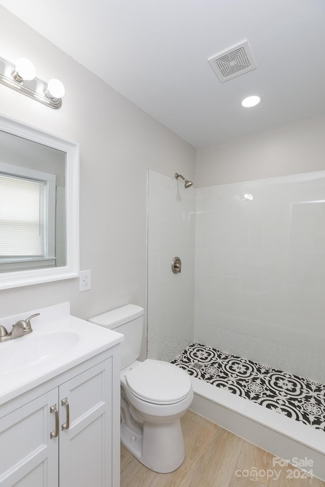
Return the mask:
<svg viewBox="0 0 325 487">
<path fill-rule="evenodd" d="M 66 266 L 66 153 L 1 130 L 0 147 L 0 272 Z"/>
</svg>

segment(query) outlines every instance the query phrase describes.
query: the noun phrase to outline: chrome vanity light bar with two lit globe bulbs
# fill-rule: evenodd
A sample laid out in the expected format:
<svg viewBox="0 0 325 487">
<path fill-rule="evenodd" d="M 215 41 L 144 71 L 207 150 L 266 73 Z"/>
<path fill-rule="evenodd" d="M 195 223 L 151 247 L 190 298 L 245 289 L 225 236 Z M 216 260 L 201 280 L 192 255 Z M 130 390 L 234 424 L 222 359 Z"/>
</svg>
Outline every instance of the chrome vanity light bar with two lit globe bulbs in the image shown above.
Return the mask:
<svg viewBox="0 0 325 487">
<path fill-rule="evenodd" d="M 25 58 L 13 64 L 0 57 L 0 83 L 44 103 L 50 108 L 60 108 L 64 87 L 59 80 L 48 83 L 35 77 L 34 65 Z"/>
</svg>

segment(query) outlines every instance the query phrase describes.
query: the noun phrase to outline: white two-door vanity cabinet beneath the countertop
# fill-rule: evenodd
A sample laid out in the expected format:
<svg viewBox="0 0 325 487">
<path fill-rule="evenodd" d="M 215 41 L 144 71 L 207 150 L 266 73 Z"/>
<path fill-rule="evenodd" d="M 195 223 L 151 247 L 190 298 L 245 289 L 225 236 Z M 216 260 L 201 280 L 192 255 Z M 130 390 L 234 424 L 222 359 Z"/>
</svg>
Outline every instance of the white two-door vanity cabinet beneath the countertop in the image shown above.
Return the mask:
<svg viewBox="0 0 325 487">
<path fill-rule="evenodd" d="M 118 487 L 116 362 L 108 350 L 7 403 L 0 487 Z"/>
</svg>

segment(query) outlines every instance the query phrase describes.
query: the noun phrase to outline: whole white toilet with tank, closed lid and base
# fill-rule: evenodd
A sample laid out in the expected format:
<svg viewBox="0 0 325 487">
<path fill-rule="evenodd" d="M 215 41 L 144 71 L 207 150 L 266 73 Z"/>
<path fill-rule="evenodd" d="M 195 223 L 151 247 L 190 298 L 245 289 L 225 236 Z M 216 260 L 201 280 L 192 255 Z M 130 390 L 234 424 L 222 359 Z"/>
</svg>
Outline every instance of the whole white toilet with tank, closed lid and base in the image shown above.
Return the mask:
<svg viewBox="0 0 325 487">
<path fill-rule="evenodd" d="M 180 418 L 193 399 L 189 376 L 176 365 L 139 362 L 143 308 L 127 304 L 90 318 L 124 335 L 121 343 L 121 443 L 155 472 L 176 470 L 185 457 Z"/>
</svg>

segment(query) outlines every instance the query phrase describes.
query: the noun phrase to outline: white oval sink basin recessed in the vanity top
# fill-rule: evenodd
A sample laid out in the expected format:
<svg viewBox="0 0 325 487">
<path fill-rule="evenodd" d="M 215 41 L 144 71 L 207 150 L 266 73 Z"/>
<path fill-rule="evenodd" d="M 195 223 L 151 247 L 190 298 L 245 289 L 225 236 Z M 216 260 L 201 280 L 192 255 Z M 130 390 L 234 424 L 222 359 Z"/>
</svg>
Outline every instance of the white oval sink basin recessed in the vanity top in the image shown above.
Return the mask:
<svg viewBox="0 0 325 487">
<path fill-rule="evenodd" d="M 13 374 L 71 351 L 79 341 L 77 333 L 59 331 L 39 336 L 32 334 L 0 343 L 0 375 Z"/>
</svg>

